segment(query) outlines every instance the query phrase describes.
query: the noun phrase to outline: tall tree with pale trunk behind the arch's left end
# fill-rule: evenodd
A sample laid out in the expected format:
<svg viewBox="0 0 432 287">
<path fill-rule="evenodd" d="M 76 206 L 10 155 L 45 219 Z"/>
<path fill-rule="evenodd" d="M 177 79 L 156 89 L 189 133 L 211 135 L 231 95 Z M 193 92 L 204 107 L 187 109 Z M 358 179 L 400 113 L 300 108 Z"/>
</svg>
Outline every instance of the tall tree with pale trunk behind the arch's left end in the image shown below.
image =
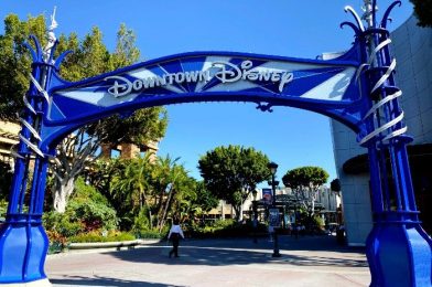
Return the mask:
<svg viewBox="0 0 432 287">
<path fill-rule="evenodd" d="M 29 86 L 31 59 L 23 42 L 35 34 L 45 44 L 45 19 L 43 15 L 20 21 L 17 15 L 4 20 L 4 34 L 0 35 L 0 118 L 17 120 L 17 110 L 22 110 L 22 96 Z M 73 54 L 64 61 L 61 76 L 67 81 L 78 81 L 97 74 L 130 65 L 138 61 L 139 50 L 134 46 L 133 31 L 120 25 L 117 45 L 109 53 L 102 42 L 102 33 L 93 28 L 83 41 L 76 33 L 62 34 L 57 54 L 72 50 Z M 9 79 L 8 79 L 9 78 Z M 125 117 L 128 117 L 125 119 Z M 64 212 L 73 192 L 74 182 L 88 161 L 94 160 L 101 142 L 133 142 L 142 145 L 160 139 L 166 128 L 166 111 L 162 107 L 138 110 L 131 115 L 112 116 L 74 131 L 57 147 L 57 160 L 52 164 L 56 177 L 53 192 L 53 206 Z"/>
</svg>

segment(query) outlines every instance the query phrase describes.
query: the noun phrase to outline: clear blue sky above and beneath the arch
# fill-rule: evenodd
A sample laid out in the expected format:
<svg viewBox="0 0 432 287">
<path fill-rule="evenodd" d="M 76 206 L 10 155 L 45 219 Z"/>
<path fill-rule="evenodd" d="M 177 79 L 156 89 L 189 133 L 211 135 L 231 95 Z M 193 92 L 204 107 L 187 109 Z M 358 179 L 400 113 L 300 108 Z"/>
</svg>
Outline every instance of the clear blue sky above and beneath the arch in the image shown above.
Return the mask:
<svg viewBox="0 0 432 287">
<path fill-rule="evenodd" d="M 378 1 L 379 14 L 392 1 Z M 393 10 L 396 29 L 412 13 L 409 1 Z M 180 52 L 237 51 L 315 59 L 323 52 L 344 51 L 353 42 L 346 4 L 360 13 L 363 0 L 0 0 L 1 19 L 15 13 L 21 19 L 57 7 L 60 33 L 84 36 L 91 26 L 104 32 L 114 49 L 120 23 L 137 34 L 142 60 Z M 3 31 L 3 24 L 1 24 Z M 2 33 L 2 32 L 1 32 Z M 170 124 L 159 155 L 181 157 L 191 176 L 201 178 L 197 161 L 222 145 L 255 147 L 279 163 L 278 177 L 302 166 L 318 166 L 336 178 L 330 121 L 311 111 L 277 107 L 258 111 L 252 104 L 197 103 L 168 106 Z"/>
</svg>

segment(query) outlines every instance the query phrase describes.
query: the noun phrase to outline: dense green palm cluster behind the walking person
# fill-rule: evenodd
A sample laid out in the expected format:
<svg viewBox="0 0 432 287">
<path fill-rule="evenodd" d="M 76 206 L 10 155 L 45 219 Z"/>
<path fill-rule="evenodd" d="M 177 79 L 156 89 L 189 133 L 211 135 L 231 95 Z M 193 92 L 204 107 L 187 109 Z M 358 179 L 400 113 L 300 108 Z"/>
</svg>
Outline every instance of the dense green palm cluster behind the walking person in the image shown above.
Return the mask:
<svg viewBox="0 0 432 287">
<path fill-rule="evenodd" d="M 90 169 L 89 184 L 116 206 L 122 230 L 161 233 L 169 217 L 194 219 L 217 205 L 180 158 L 153 157 L 98 160 Z"/>
</svg>

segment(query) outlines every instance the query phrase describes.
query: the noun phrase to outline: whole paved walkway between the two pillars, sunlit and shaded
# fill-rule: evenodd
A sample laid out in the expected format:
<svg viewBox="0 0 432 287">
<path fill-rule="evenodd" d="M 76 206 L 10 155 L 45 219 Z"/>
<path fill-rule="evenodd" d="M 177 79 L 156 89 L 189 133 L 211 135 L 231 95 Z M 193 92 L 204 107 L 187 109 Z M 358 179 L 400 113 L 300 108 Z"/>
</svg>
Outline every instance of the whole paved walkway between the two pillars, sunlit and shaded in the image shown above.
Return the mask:
<svg viewBox="0 0 432 287">
<path fill-rule="evenodd" d="M 361 248 L 341 247 L 331 236 L 273 243 L 251 240 L 187 240 L 180 258 L 169 258 L 165 243 L 118 252 L 85 251 L 48 256 L 54 286 L 368 286 Z"/>
</svg>

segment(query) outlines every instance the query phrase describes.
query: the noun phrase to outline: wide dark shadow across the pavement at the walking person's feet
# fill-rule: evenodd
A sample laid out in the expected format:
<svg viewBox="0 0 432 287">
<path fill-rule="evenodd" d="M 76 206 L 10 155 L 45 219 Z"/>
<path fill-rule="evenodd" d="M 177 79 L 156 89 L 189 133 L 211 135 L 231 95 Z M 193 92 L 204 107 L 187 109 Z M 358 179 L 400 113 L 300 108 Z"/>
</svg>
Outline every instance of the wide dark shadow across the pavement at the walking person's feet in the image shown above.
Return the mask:
<svg viewBox="0 0 432 287">
<path fill-rule="evenodd" d="M 301 242 L 303 241 L 303 242 Z M 293 242 L 295 244 L 293 244 Z M 294 246 L 293 246 L 294 245 Z M 287 264 L 298 266 L 368 267 L 363 249 L 352 249 L 323 244 L 318 237 L 307 240 L 280 240 L 282 257 L 271 257 L 273 243 L 261 240 L 253 244 L 249 240 L 185 241 L 180 246 L 180 258 L 169 258 L 171 247 L 166 243 L 153 244 L 133 251 L 109 253 L 121 261 L 166 265 L 247 265 Z M 304 251 L 299 254 L 295 251 Z M 349 254 L 348 254 L 349 253 Z"/>
</svg>

